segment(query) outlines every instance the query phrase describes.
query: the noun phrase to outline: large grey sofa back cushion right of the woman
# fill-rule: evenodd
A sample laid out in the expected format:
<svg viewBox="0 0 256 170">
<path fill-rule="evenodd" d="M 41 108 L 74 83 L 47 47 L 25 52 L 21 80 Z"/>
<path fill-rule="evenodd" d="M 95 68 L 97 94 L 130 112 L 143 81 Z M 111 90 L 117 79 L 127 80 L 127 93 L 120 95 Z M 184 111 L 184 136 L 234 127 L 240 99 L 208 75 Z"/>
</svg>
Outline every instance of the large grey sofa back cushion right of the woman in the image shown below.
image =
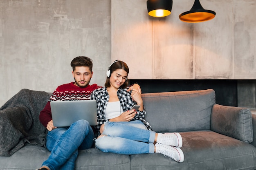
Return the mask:
<svg viewBox="0 0 256 170">
<path fill-rule="evenodd" d="M 141 95 L 146 120 L 156 132 L 210 130 L 215 91 L 181 91 Z"/>
</svg>

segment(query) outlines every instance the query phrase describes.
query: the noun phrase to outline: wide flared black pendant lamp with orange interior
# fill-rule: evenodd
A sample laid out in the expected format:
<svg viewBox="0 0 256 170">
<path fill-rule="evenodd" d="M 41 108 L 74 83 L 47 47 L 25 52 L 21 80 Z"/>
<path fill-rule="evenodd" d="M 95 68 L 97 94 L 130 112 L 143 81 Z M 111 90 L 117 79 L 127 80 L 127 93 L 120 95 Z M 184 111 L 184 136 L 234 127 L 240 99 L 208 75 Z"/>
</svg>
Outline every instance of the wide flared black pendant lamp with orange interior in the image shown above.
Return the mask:
<svg viewBox="0 0 256 170">
<path fill-rule="evenodd" d="M 215 17 L 216 12 L 206 10 L 202 7 L 199 0 L 195 0 L 193 7 L 190 11 L 186 11 L 179 15 L 180 20 L 183 22 L 204 22 L 211 20 Z"/>
</svg>

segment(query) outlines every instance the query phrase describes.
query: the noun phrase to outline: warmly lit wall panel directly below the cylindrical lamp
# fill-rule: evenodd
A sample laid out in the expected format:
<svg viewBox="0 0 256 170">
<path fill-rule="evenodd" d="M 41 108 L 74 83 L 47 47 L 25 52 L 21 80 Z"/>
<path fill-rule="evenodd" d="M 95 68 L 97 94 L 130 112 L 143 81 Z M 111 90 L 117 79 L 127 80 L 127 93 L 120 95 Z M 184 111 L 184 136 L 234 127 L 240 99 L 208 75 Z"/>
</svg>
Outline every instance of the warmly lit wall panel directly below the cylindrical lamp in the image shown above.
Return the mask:
<svg viewBox="0 0 256 170">
<path fill-rule="evenodd" d="M 182 4 L 173 2 L 171 15 L 154 18 L 154 79 L 193 79 L 193 25 L 181 22 Z M 190 8 L 189 8 L 190 9 Z"/>
</svg>

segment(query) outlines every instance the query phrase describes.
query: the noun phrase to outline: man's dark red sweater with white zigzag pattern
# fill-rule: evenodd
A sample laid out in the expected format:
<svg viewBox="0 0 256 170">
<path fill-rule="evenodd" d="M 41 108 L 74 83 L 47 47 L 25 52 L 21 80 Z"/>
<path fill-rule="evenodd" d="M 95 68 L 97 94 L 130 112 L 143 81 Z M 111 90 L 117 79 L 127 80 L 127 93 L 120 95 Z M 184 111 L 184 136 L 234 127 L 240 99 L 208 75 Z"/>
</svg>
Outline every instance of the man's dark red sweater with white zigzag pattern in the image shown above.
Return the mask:
<svg viewBox="0 0 256 170">
<path fill-rule="evenodd" d="M 40 112 L 39 119 L 43 126 L 47 126 L 48 122 L 52 120 L 51 101 L 64 101 L 64 100 L 90 100 L 92 91 L 101 88 L 97 84 L 88 85 L 86 87 L 78 87 L 74 82 L 58 86 L 52 93 L 45 108 Z"/>
</svg>

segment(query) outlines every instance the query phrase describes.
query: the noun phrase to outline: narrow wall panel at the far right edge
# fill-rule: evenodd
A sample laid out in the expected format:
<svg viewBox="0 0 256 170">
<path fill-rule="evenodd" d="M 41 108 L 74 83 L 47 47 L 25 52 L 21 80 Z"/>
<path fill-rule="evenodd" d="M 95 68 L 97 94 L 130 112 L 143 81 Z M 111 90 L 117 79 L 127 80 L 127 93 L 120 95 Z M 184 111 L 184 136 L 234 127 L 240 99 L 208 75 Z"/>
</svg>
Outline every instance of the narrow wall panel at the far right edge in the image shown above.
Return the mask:
<svg viewBox="0 0 256 170">
<path fill-rule="evenodd" d="M 234 0 L 234 78 L 256 79 L 255 0 Z"/>
</svg>

